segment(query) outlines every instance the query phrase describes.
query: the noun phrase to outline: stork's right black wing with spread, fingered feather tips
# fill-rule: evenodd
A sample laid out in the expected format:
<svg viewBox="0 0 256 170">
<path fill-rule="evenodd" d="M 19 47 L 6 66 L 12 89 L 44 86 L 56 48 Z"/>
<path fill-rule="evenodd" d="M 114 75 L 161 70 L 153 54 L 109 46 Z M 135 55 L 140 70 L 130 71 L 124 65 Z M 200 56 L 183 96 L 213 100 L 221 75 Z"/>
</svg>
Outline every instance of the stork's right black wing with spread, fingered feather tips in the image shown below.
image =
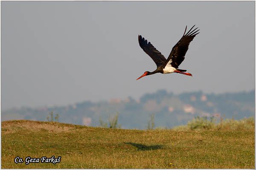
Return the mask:
<svg viewBox="0 0 256 170">
<path fill-rule="evenodd" d="M 178 68 L 178 66 L 181 64 L 181 62 L 183 62 L 183 60 L 185 59 L 185 54 L 189 49 L 189 43 L 194 39 L 194 37 L 197 34 L 199 34 L 199 32 L 198 32 L 199 29 L 196 30 L 197 28 L 195 28 L 193 31 L 191 31 L 193 28 L 194 28 L 194 26 L 187 33 L 186 33 L 186 29 L 185 29 L 185 32 L 184 32 L 183 36 L 181 37 L 181 39 L 172 48 L 172 51 L 171 51 L 164 66 L 166 66 L 167 64 L 171 64 L 172 67 Z"/>
</svg>

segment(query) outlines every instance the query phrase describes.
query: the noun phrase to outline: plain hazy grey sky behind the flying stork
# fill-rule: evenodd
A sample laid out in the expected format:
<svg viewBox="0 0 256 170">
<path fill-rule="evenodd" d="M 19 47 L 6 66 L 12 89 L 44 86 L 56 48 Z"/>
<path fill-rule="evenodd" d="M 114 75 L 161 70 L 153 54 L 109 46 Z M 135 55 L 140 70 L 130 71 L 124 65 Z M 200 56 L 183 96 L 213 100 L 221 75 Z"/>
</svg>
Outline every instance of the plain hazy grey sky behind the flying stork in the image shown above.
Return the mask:
<svg viewBox="0 0 256 170">
<path fill-rule="evenodd" d="M 179 66 L 154 74 L 138 34 L 166 58 L 186 25 L 200 28 Z M 67 105 L 166 89 L 255 87 L 254 1 L 1 1 L 1 108 Z"/>
</svg>

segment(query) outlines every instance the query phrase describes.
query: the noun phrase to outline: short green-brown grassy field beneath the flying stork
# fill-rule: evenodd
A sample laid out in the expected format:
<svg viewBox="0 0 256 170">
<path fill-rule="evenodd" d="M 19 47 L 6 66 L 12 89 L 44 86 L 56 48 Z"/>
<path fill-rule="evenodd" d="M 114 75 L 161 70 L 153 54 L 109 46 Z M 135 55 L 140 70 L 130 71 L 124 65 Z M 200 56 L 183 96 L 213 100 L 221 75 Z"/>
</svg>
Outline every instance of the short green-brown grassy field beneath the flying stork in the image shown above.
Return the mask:
<svg viewBox="0 0 256 170">
<path fill-rule="evenodd" d="M 1 168 L 255 169 L 254 131 L 124 130 L 5 121 Z M 19 156 L 23 163 L 15 163 Z M 26 157 L 60 162 L 29 163 Z"/>
</svg>

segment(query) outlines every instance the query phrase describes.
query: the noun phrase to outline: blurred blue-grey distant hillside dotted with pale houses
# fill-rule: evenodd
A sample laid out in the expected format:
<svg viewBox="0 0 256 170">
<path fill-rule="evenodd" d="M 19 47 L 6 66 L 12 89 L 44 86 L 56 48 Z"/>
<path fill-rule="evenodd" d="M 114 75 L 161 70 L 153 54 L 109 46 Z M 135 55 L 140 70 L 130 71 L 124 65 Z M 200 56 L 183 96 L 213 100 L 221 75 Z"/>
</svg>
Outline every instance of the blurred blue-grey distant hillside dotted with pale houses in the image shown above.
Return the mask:
<svg viewBox="0 0 256 170">
<path fill-rule="evenodd" d="M 255 91 L 204 94 L 186 92 L 174 95 L 165 90 L 145 94 L 139 100 L 110 99 L 109 101 L 85 101 L 62 107 L 12 108 L 1 112 L 1 119 L 27 119 L 47 121 L 49 113 L 59 115 L 59 122 L 77 125 L 99 126 L 99 117 L 107 121 L 109 116 L 119 112 L 118 124 L 122 128 L 145 129 L 150 114 L 155 114 L 155 126 L 173 126 L 186 124 L 195 116 L 215 116 L 219 118 L 243 119 L 255 115 Z"/>
</svg>

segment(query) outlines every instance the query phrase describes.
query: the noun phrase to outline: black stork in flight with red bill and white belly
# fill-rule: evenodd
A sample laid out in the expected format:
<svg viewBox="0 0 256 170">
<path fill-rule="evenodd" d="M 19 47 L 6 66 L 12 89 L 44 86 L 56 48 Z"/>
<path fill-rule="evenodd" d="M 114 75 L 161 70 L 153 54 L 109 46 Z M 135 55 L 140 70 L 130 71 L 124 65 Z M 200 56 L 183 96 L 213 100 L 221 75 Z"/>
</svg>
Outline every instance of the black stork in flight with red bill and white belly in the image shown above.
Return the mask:
<svg viewBox="0 0 256 170">
<path fill-rule="evenodd" d="M 167 74 L 173 72 L 192 76 L 192 74 L 190 73 L 185 73 L 186 70 L 178 69 L 178 66 L 185 59 L 185 54 L 189 49 L 189 43 L 194 39 L 197 34 L 199 34 L 199 29 L 197 30 L 197 28 L 191 31 L 194 27 L 195 25 L 186 33 L 186 26 L 183 36 L 172 48 L 172 51 L 167 59 L 163 56 L 163 54 L 157 51 L 157 49 L 154 48 L 154 46 L 150 42 L 148 42 L 143 37 L 141 37 L 141 35 L 139 35 L 138 38 L 140 47 L 143 49 L 143 51 L 145 51 L 146 54 L 149 55 L 149 57 L 151 57 L 151 59 L 153 59 L 153 61 L 157 65 L 157 69 L 153 72 L 145 71 L 144 74 L 137 79 L 155 73 Z"/>
</svg>

